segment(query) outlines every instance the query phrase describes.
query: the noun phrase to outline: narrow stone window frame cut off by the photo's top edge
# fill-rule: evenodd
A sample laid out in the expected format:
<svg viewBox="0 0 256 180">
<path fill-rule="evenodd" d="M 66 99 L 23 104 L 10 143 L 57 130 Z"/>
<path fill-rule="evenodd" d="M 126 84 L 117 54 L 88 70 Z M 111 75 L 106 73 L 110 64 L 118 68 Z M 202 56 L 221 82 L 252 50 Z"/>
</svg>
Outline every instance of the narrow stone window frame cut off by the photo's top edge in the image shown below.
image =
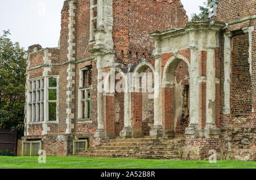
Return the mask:
<svg viewBox="0 0 256 180">
<path fill-rule="evenodd" d="M 97 2 L 96 5 L 94 5 L 94 2 Z M 96 9 L 97 16 L 94 17 L 94 10 Z M 95 28 L 94 28 L 94 22 L 96 21 L 97 27 L 98 27 L 98 0 L 90 0 L 90 39 L 89 44 L 93 44 L 95 42 Z"/>
</svg>

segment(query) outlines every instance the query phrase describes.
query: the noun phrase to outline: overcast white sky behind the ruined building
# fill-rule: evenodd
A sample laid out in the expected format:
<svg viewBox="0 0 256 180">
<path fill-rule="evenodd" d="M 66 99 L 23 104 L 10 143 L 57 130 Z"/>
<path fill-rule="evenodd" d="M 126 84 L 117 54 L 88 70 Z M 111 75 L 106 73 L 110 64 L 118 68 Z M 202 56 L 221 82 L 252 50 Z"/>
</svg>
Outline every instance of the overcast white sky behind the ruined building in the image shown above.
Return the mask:
<svg viewBox="0 0 256 180">
<path fill-rule="evenodd" d="M 181 0 L 187 15 L 199 13 L 205 0 Z M 11 40 L 28 46 L 56 47 L 64 0 L 0 0 L 0 35 L 10 29 Z"/>
</svg>

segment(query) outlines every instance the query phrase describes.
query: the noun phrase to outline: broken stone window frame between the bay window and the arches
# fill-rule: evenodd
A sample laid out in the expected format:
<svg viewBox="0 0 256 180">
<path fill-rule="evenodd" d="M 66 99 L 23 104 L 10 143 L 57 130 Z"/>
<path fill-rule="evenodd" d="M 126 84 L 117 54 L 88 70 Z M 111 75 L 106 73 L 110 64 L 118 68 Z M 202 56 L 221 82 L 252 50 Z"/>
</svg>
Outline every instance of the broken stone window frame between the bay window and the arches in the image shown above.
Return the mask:
<svg viewBox="0 0 256 180">
<path fill-rule="evenodd" d="M 79 68 L 79 94 L 78 94 L 78 108 L 77 108 L 77 120 L 79 121 L 79 123 L 91 123 L 92 119 L 91 119 L 91 100 L 90 98 L 88 98 L 88 91 L 89 93 L 91 93 L 91 89 L 92 89 L 92 84 L 84 87 L 83 86 L 83 82 L 84 82 L 84 71 L 88 71 L 89 67 L 81 67 Z M 85 92 L 85 98 L 82 99 L 82 93 L 83 91 Z M 91 97 L 91 96 L 90 96 Z M 83 112 L 82 112 L 82 104 L 84 103 L 84 101 L 86 101 L 87 103 L 85 103 L 85 115 L 88 114 L 87 110 L 88 110 L 88 102 L 90 102 L 90 117 L 85 117 L 82 118 L 83 116 Z"/>
</svg>

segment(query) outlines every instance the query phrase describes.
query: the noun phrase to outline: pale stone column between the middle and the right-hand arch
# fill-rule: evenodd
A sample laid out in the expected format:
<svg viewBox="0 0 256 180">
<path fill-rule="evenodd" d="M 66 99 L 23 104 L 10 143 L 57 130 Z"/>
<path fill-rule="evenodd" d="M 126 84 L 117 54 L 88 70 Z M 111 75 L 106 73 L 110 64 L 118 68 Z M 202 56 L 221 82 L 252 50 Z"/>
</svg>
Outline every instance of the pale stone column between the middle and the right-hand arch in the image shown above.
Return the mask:
<svg viewBox="0 0 256 180">
<path fill-rule="evenodd" d="M 158 44 L 158 40 L 156 40 Z M 154 127 L 150 130 L 152 138 L 163 136 L 162 125 L 162 57 L 155 55 L 155 92 L 154 92 Z"/>
</svg>

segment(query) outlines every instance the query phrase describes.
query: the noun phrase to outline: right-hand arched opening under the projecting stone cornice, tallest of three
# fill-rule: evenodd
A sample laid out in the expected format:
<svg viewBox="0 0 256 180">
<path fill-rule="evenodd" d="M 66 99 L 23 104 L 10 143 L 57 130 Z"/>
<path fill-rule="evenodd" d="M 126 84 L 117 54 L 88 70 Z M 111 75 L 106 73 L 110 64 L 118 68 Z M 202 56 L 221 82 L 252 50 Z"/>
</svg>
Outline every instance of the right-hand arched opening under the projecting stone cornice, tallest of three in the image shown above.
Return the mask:
<svg viewBox="0 0 256 180">
<path fill-rule="evenodd" d="M 164 134 L 184 135 L 189 125 L 189 63 L 172 57 L 163 71 L 163 129 Z"/>
</svg>

